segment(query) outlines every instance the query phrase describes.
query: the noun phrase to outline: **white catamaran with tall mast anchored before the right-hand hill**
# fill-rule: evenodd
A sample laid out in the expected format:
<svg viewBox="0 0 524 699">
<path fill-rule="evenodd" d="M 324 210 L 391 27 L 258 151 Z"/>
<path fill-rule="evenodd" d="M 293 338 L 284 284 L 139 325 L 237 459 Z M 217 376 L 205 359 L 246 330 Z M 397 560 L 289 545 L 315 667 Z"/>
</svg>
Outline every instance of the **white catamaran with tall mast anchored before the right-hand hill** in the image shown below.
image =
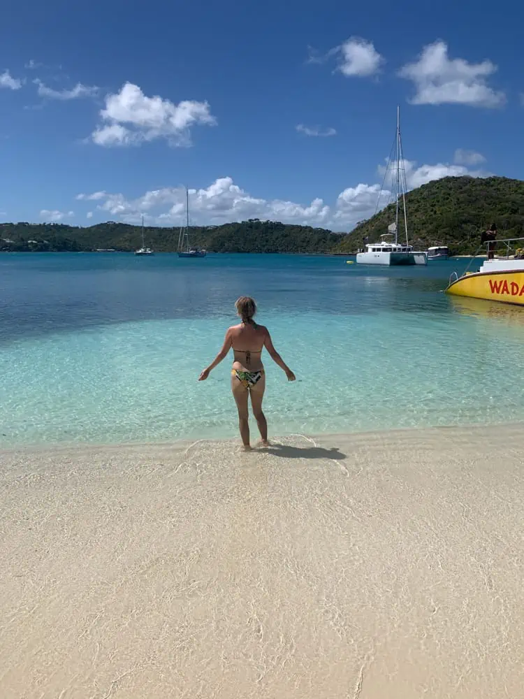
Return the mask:
<svg viewBox="0 0 524 699">
<path fill-rule="evenodd" d="M 397 132 L 395 135 L 395 177 L 393 178 L 393 196 L 395 197 L 395 220 L 388 225 L 388 232 L 380 236 L 379 243 L 368 243 L 365 252 L 358 252 L 356 256 L 357 264 L 381 264 L 381 265 L 413 265 L 428 264 L 428 254 L 413 250 L 409 245 L 407 234 L 407 211 L 406 211 L 406 171 L 404 167 L 404 154 L 402 153 L 402 138 L 400 138 L 400 107 L 397 107 Z M 391 166 L 391 157 L 386 167 L 386 175 Z M 384 180 L 386 180 L 384 175 Z M 384 187 L 384 183 L 382 185 Z M 379 194 L 382 194 L 382 189 Z M 406 242 L 398 242 L 398 227 L 400 223 L 400 205 L 402 202 L 403 228 L 406 235 Z M 377 204 L 378 208 L 378 204 Z M 393 238 L 393 240 L 392 240 Z"/>
</svg>

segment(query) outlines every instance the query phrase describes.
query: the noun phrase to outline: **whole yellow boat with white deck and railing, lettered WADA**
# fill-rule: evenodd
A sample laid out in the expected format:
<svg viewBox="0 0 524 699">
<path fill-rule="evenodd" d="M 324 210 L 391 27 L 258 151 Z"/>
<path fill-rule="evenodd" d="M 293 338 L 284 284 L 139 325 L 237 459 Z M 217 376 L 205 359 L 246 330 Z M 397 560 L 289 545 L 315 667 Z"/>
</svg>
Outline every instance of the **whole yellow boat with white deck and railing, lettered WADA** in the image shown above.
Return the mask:
<svg viewBox="0 0 524 699">
<path fill-rule="evenodd" d="M 517 250 L 516 254 L 509 254 L 511 243 L 517 240 L 524 238 L 497 241 L 505 243 L 507 257 L 486 259 L 479 271 L 465 272 L 462 277 L 453 273 L 446 294 L 524 305 L 524 253 Z"/>
</svg>

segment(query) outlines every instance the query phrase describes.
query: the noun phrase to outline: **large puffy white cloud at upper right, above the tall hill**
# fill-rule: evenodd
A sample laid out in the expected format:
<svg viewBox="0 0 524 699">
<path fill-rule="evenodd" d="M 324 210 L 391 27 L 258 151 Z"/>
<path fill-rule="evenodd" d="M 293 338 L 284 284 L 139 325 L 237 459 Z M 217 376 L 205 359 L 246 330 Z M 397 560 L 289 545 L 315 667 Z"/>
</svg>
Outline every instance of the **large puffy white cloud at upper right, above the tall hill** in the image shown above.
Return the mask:
<svg viewBox="0 0 524 699">
<path fill-rule="evenodd" d="M 401 78 L 412 80 L 416 94 L 412 104 L 465 104 L 472 107 L 500 107 L 504 92 L 489 87 L 486 80 L 497 71 L 489 60 L 468 63 L 463 58 L 450 59 L 444 41 L 425 46 L 419 59 L 399 71 Z"/>
</svg>

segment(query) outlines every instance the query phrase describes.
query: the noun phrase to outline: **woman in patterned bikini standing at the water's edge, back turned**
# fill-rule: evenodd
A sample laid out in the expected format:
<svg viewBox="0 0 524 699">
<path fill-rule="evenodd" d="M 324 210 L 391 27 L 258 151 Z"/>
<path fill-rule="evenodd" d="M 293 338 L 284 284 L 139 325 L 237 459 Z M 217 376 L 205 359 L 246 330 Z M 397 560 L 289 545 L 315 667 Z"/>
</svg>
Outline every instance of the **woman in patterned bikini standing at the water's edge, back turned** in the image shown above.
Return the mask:
<svg viewBox="0 0 524 699">
<path fill-rule="evenodd" d="M 229 350 L 233 348 L 233 369 L 231 370 L 231 391 L 238 408 L 238 423 L 240 436 L 244 449 L 249 451 L 249 421 L 248 398 L 251 398 L 253 415 L 259 426 L 261 443 L 268 446 L 268 423 L 262 412 L 262 400 L 265 391 L 265 372 L 261 353 L 263 348 L 268 350 L 269 356 L 286 373 L 288 381 L 294 381 L 295 375 L 279 355 L 273 346 L 271 336 L 267 328 L 254 322 L 256 303 L 249 296 L 240 296 L 235 303 L 238 316 L 242 322 L 233 325 L 226 332 L 226 339 L 222 349 L 201 373 L 198 381 L 205 381 L 210 372 L 226 358 Z"/>
</svg>

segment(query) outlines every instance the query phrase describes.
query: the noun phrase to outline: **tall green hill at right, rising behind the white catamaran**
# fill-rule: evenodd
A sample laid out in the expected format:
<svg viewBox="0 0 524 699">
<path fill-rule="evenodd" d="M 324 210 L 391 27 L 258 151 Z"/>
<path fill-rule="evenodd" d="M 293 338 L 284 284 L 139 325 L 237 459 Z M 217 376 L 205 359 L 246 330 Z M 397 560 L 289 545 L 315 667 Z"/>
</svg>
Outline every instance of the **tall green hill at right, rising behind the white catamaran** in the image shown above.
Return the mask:
<svg viewBox="0 0 524 699">
<path fill-rule="evenodd" d="M 448 177 L 406 195 L 409 243 L 421 250 L 449 245 L 454 254 L 472 254 L 481 231 L 495 222 L 499 238 L 524 236 L 524 182 L 502 177 Z M 338 252 L 354 252 L 363 238 L 379 240 L 395 220 L 391 204 L 344 236 Z M 400 226 L 399 226 L 400 227 Z M 402 236 L 399 236 L 402 241 Z"/>
</svg>

